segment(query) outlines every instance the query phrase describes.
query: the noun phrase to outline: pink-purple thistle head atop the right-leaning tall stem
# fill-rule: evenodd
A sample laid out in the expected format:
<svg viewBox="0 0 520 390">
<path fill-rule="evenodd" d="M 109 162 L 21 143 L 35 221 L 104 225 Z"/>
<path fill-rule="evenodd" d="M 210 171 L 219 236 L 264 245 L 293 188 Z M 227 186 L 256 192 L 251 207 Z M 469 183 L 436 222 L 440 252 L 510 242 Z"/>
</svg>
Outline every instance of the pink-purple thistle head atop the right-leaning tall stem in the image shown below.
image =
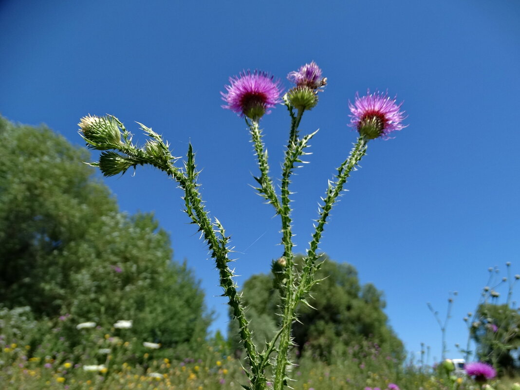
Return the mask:
<svg viewBox="0 0 520 390">
<path fill-rule="evenodd" d="M 349 126 L 355 127 L 367 139 L 388 139 L 390 133 L 406 127 L 401 123 L 405 119 L 405 112 L 399 111 L 401 105 L 402 102 L 397 104 L 396 98 L 392 100 L 388 93 L 376 91 L 371 94 L 367 90 L 367 95 L 363 97 L 356 93 L 354 104 L 348 101 L 352 112 Z"/>
</svg>

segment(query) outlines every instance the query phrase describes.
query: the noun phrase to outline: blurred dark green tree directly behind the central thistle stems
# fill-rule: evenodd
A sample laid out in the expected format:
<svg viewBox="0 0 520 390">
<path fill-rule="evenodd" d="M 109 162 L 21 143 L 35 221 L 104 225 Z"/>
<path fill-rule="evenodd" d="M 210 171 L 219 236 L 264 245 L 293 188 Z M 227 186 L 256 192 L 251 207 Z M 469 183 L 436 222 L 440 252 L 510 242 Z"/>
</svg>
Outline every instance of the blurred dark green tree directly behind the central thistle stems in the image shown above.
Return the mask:
<svg viewBox="0 0 520 390">
<path fill-rule="evenodd" d="M 302 263 L 296 256 L 296 263 Z M 312 355 L 324 360 L 332 355 L 346 355 L 355 345 L 369 341 L 388 356 L 402 361 L 404 346 L 388 325 L 383 309 L 383 293 L 373 284 L 359 284 L 357 271 L 347 263 L 336 263 L 325 254 L 317 279 L 323 279 L 311 291 L 310 308 L 300 305 L 298 319 L 293 324 L 293 337 L 297 355 Z M 245 281 L 243 298 L 248 305 L 253 338 L 258 346 L 269 342 L 275 334 L 280 303 L 278 289 L 272 275 L 254 275 Z M 236 321 L 230 323 L 233 347 L 240 348 L 236 337 Z"/>
</svg>

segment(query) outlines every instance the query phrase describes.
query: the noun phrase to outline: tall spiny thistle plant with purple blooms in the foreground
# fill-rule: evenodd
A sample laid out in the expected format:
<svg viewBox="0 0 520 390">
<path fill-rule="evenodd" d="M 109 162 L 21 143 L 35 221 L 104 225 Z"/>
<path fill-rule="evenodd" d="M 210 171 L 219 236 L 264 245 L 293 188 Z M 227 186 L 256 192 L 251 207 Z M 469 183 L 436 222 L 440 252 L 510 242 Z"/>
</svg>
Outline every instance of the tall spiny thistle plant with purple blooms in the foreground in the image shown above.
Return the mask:
<svg viewBox="0 0 520 390">
<path fill-rule="evenodd" d="M 292 364 L 288 353 L 293 345 L 291 338 L 292 323 L 297 319 L 297 307 L 307 304 L 313 285 L 319 282 L 316 271 L 320 267 L 319 243 L 329 214 L 344 189 L 351 172 L 355 171 L 361 158 L 365 155 L 369 140 L 389 138 L 389 134 L 405 127 L 402 125 L 404 112 L 400 104 L 387 94 L 375 92 L 363 97 L 356 94 L 354 103 L 349 102 L 351 111 L 349 126 L 359 134 L 354 148 L 344 158 L 337 168 L 337 173 L 328 185 L 318 210 L 318 218 L 314 225 L 308 249 L 303 264 L 296 267 L 293 253 L 292 208 L 291 208 L 291 176 L 294 170 L 309 154 L 309 141 L 316 132 L 300 135 L 300 123 L 303 114 L 316 107 L 318 94 L 327 84 L 322 77 L 322 71 L 315 62 L 305 64 L 298 71 L 289 73 L 288 79 L 295 85 L 282 96 L 280 80 L 261 71 L 244 71 L 239 76 L 231 77 L 226 92 L 221 92 L 226 102 L 222 107 L 237 113 L 244 118 L 251 134 L 254 154 L 259 168 L 259 174 L 254 177 L 257 182 L 255 190 L 274 207 L 281 222 L 281 244 L 283 252 L 278 261 L 272 264 L 277 287 L 282 298 L 282 321 L 279 330 L 260 349 L 252 341 L 249 322 L 237 284 L 233 280 L 233 270 L 229 267 L 232 261 L 232 250 L 229 246 L 229 235 L 217 218 L 211 218 L 205 208 L 205 202 L 199 191 L 199 172 L 195 162 L 195 154 L 191 144 L 188 146 L 186 159 L 180 162 L 163 140 L 162 136 L 144 124 L 138 123 L 140 129 L 148 136 L 146 144 L 138 147 L 132 141 L 132 134 L 123 123 L 113 115 L 86 116 L 79 123 L 80 135 L 92 149 L 101 150 L 99 161 L 90 163 L 99 167 L 105 176 L 124 173 L 130 167 L 149 164 L 157 167 L 172 177 L 183 191 L 184 211 L 191 223 L 198 227 L 211 257 L 214 259 L 219 273 L 219 282 L 228 298 L 232 315 L 238 320 L 240 338 L 243 343 L 247 364 L 244 367 L 250 380 L 243 385 L 248 390 L 265 390 L 267 383 L 272 383 L 274 390 L 282 390 L 288 386 L 290 378 L 288 367 Z M 269 171 L 267 149 L 262 140 L 260 121 L 270 109 L 277 105 L 285 106 L 290 116 L 289 137 L 282 162 L 282 177 L 279 188 L 275 187 L 274 179 Z M 272 374 L 267 370 L 274 366 Z M 270 378 L 270 376 L 274 378 Z M 269 378 L 268 378 L 269 376 Z"/>
</svg>

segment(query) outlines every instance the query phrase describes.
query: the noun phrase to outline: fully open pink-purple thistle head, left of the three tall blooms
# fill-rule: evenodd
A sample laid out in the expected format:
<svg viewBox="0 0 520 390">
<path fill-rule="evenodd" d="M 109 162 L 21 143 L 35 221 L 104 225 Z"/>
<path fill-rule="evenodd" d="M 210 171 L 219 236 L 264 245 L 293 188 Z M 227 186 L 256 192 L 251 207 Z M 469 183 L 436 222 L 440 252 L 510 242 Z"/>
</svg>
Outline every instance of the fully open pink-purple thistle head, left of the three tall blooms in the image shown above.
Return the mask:
<svg viewBox="0 0 520 390">
<path fill-rule="evenodd" d="M 226 85 L 227 93 L 220 92 L 222 99 L 227 102 L 222 108 L 230 109 L 240 116 L 257 121 L 265 113 L 270 113 L 280 103 L 282 87 L 280 80 L 266 72 L 255 70 L 243 71 L 239 76 L 229 77 L 231 85 Z"/>
</svg>

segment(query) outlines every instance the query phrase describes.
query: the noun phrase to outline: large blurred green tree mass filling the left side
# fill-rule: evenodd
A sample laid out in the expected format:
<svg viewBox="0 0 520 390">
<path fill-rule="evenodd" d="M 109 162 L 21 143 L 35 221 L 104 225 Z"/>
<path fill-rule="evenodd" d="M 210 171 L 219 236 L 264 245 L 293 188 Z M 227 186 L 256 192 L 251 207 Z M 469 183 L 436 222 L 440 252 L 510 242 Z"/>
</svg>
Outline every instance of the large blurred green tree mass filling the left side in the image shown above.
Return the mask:
<svg viewBox="0 0 520 390">
<path fill-rule="evenodd" d="M 85 149 L 1 116 L 0 145 L 0 302 L 71 324 L 133 320 L 128 335 L 164 346 L 205 337 L 203 292 L 167 233 L 119 212 Z"/>
</svg>

